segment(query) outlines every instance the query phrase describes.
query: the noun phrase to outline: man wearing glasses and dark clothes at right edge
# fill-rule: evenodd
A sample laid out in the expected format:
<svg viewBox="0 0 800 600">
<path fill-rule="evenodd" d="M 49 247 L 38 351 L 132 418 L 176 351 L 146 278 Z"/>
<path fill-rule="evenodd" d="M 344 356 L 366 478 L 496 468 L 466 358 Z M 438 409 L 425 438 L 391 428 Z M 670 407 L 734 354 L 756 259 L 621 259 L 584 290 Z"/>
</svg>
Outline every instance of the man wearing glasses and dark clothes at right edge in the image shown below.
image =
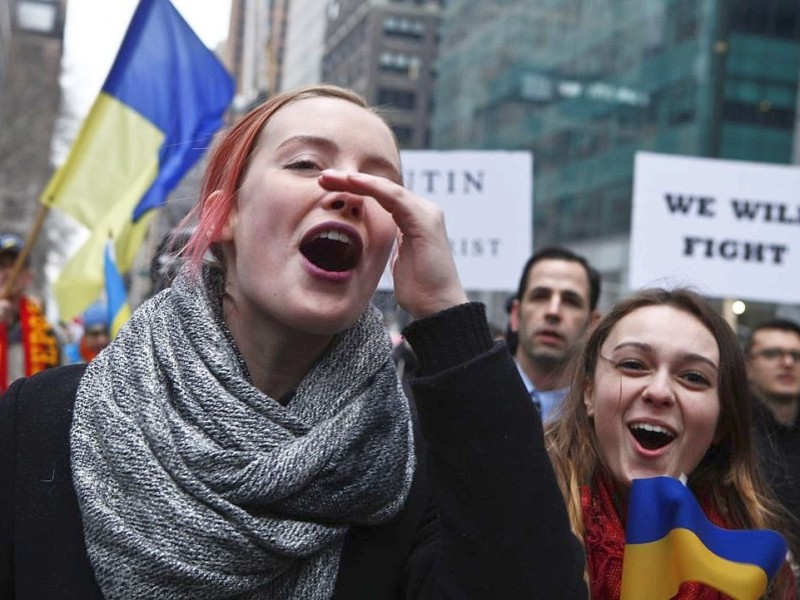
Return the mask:
<svg viewBox="0 0 800 600">
<path fill-rule="evenodd" d="M 745 344 L 753 394 L 756 450 L 768 483 L 786 507 L 800 560 L 800 325 L 773 319 L 756 325 Z"/>
</svg>

